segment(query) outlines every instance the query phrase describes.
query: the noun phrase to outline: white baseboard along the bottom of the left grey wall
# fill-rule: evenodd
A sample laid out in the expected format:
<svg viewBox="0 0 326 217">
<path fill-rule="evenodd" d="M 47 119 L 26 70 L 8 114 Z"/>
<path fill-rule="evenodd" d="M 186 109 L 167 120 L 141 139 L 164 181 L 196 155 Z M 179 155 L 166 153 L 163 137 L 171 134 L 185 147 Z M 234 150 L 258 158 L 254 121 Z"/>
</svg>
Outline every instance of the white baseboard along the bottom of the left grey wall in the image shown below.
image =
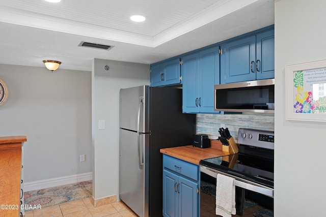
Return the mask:
<svg viewBox="0 0 326 217">
<path fill-rule="evenodd" d="M 75 175 L 62 176 L 57 178 L 49 178 L 38 181 L 30 181 L 24 183 L 24 192 L 56 187 L 64 184 L 71 184 L 80 181 L 88 181 L 93 179 L 93 173 L 80 173 Z"/>
</svg>

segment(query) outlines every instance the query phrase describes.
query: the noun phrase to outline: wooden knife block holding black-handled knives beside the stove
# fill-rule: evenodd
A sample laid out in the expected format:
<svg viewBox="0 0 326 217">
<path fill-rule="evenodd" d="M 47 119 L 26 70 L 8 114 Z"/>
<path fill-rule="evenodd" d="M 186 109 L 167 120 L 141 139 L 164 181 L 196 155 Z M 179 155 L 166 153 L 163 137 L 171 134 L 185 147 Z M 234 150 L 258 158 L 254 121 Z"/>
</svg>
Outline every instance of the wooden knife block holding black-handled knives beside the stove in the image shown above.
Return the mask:
<svg viewBox="0 0 326 217">
<path fill-rule="evenodd" d="M 222 152 L 223 154 L 233 154 L 239 151 L 236 142 L 234 141 L 233 137 L 231 136 L 229 129 L 220 128 L 219 133 L 219 140 L 222 142 Z"/>
</svg>

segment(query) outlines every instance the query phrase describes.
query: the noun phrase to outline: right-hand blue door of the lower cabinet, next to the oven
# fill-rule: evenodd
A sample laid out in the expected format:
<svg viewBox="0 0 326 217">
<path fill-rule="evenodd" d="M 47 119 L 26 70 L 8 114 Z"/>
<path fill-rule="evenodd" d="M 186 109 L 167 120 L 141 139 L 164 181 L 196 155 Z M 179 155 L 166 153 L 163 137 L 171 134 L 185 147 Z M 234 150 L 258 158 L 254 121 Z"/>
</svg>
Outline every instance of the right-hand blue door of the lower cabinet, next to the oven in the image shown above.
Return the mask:
<svg viewBox="0 0 326 217">
<path fill-rule="evenodd" d="M 179 176 L 179 217 L 199 216 L 199 184 Z"/>
</svg>

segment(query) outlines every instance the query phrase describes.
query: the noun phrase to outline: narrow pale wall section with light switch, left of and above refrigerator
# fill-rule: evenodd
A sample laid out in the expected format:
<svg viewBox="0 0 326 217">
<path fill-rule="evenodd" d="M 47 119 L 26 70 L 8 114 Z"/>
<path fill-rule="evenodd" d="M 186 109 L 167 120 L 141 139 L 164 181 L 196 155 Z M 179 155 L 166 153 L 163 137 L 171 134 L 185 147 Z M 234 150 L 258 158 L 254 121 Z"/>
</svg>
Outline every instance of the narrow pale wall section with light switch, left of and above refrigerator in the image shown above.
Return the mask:
<svg viewBox="0 0 326 217">
<path fill-rule="evenodd" d="M 92 65 L 93 197 L 100 199 L 119 196 L 119 91 L 148 85 L 149 65 L 104 59 Z M 98 120 L 105 120 L 104 130 Z"/>
</svg>

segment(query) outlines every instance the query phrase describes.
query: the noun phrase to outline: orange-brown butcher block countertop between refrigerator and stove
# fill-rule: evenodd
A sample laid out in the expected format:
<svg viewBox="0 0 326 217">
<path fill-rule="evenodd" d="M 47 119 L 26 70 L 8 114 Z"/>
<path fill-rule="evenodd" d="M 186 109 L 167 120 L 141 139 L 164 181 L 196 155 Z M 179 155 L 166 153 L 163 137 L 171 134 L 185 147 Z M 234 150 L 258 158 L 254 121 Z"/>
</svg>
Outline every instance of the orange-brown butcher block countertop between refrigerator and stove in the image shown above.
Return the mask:
<svg viewBox="0 0 326 217">
<path fill-rule="evenodd" d="M 200 164 L 200 160 L 223 156 L 222 143 L 219 140 L 210 140 L 209 148 L 198 148 L 192 145 L 162 148 L 161 153 L 193 164 Z"/>
</svg>

